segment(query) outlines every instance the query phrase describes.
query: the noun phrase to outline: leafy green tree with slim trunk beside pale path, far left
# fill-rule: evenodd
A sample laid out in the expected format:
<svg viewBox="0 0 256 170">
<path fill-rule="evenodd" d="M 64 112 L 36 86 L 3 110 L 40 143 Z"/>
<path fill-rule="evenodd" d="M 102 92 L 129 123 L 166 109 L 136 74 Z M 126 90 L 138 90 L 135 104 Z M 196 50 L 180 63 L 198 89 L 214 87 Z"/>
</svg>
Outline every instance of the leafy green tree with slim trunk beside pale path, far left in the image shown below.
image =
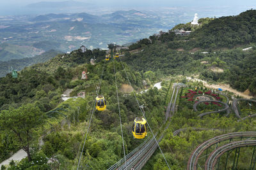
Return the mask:
<svg viewBox="0 0 256 170">
<path fill-rule="evenodd" d="M 0 114 L 0 130 L 6 134 L 13 133 L 22 149 L 31 161 L 29 146 L 38 135 L 36 128 L 43 122 L 44 115 L 34 104 L 26 104 L 20 108 L 3 110 Z"/>
</svg>

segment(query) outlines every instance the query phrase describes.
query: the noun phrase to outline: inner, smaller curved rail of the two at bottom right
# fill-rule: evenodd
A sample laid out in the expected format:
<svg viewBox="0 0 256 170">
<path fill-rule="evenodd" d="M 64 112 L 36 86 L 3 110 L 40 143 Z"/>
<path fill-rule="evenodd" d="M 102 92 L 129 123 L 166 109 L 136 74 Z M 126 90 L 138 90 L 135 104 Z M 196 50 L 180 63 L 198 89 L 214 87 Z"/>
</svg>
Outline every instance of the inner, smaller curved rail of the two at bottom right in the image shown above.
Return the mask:
<svg viewBox="0 0 256 170">
<path fill-rule="evenodd" d="M 228 152 L 229 150 L 233 150 L 234 148 L 248 147 L 248 146 L 256 146 L 256 140 L 250 141 L 236 141 L 233 143 L 228 143 L 227 145 L 221 146 L 220 148 L 214 150 L 209 155 L 208 159 L 205 162 L 205 170 L 214 169 L 218 158 L 223 155 L 223 153 Z"/>
</svg>

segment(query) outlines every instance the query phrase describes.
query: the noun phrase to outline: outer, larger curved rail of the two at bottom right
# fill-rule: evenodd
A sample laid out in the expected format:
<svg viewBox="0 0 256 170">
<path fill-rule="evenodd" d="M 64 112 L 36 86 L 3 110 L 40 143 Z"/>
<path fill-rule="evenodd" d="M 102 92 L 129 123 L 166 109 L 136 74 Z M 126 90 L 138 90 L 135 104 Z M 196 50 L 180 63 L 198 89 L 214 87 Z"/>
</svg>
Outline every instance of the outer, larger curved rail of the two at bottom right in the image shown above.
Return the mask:
<svg viewBox="0 0 256 170">
<path fill-rule="evenodd" d="M 193 169 L 196 170 L 198 159 L 200 155 L 210 146 L 220 143 L 221 141 L 227 141 L 228 139 L 234 139 L 234 138 L 256 138 L 256 132 L 233 132 L 233 133 L 228 133 L 228 134 L 223 134 L 221 136 L 216 136 L 212 139 L 209 139 L 208 141 L 205 141 L 201 145 L 199 145 L 194 152 L 191 153 L 188 164 L 187 164 L 187 169 Z"/>
</svg>

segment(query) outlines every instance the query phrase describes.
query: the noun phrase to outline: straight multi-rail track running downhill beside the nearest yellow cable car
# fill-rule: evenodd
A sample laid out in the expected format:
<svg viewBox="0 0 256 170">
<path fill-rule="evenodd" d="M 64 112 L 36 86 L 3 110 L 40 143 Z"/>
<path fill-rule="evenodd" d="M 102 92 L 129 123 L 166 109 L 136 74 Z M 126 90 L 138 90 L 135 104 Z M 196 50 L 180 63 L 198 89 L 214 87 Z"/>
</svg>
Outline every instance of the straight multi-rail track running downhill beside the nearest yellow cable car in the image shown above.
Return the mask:
<svg viewBox="0 0 256 170">
<path fill-rule="evenodd" d="M 173 84 L 173 94 L 172 94 L 172 99 L 168 105 L 168 108 L 166 110 L 166 115 L 165 117 L 172 117 L 173 114 L 170 114 L 175 112 L 175 103 L 177 101 L 177 96 L 179 92 L 179 88 L 182 84 L 181 83 L 175 83 Z M 174 94 L 176 92 L 176 96 L 173 101 Z M 173 102 L 172 102 L 173 101 Z M 169 124 L 168 124 L 169 125 Z M 167 129 L 167 127 L 164 129 L 164 131 Z M 164 133 L 157 139 L 158 143 L 161 141 L 163 138 Z M 141 143 L 140 146 L 132 150 L 132 152 L 128 153 L 126 155 L 126 164 L 127 164 L 127 169 L 141 169 L 147 162 L 148 159 L 153 155 L 153 153 L 157 149 L 157 143 L 154 138 L 148 138 L 145 140 L 143 143 Z M 109 167 L 109 170 L 111 169 L 125 169 L 125 160 L 124 158 L 116 162 L 113 166 Z"/>
</svg>

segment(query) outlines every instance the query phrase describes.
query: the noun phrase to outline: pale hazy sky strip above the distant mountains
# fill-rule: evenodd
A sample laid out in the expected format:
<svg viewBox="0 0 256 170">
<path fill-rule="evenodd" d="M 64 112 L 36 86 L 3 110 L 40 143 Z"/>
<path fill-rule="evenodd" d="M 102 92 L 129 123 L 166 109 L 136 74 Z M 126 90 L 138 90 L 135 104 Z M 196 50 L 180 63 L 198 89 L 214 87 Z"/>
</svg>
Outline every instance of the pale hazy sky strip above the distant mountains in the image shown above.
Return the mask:
<svg viewBox="0 0 256 170">
<path fill-rule="evenodd" d="M 20 14 L 44 14 L 44 13 L 60 13 L 57 10 L 47 10 L 45 8 L 33 9 L 25 8 L 26 5 L 31 3 L 38 3 L 42 1 L 60 2 L 70 0 L 0 0 L 0 15 L 20 15 Z M 227 11 L 227 15 L 238 15 L 240 12 L 248 9 L 256 8 L 256 0 L 75 0 L 92 4 L 93 7 L 84 8 L 84 11 L 93 13 L 97 7 L 108 8 L 108 10 L 158 10 L 160 8 L 173 8 L 173 7 L 193 7 L 200 11 L 202 9 L 209 10 L 219 8 L 219 11 Z M 227 7 L 227 8 L 226 8 Z M 81 8 L 81 7 L 80 7 Z M 90 8 L 90 9 L 89 9 Z M 89 11 L 88 11 L 89 9 Z M 221 9 L 221 10 L 220 10 Z M 90 11 L 91 10 L 91 11 Z M 77 12 L 74 8 L 67 8 L 61 12 L 74 13 Z M 95 11 L 95 10 L 94 10 Z M 79 12 L 79 11 L 78 11 Z M 212 13 L 218 15 L 218 13 Z"/>
</svg>

